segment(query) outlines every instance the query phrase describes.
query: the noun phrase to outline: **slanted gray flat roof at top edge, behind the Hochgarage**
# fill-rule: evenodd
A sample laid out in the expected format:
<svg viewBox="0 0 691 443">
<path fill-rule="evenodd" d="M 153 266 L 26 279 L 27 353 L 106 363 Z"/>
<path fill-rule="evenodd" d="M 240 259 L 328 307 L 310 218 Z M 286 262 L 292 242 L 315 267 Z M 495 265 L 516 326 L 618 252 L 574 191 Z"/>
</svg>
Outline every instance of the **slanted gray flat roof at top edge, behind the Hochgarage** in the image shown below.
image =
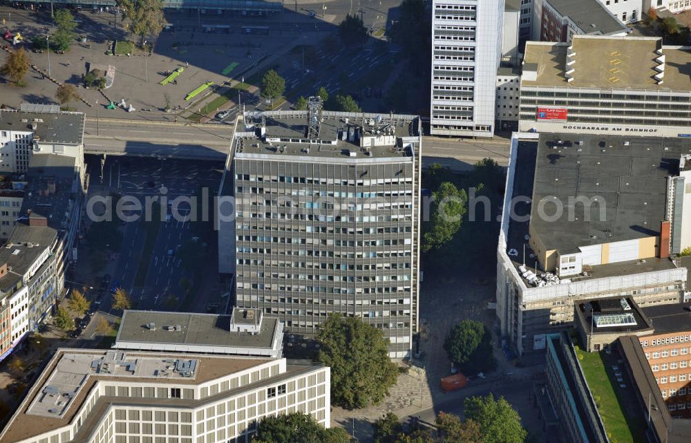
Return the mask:
<svg viewBox="0 0 691 443">
<path fill-rule="evenodd" d="M 597 0 L 547 0 L 562 17 L 569 17 L 586 34 L 612 35 L 627 27 Z"/>
</svg>

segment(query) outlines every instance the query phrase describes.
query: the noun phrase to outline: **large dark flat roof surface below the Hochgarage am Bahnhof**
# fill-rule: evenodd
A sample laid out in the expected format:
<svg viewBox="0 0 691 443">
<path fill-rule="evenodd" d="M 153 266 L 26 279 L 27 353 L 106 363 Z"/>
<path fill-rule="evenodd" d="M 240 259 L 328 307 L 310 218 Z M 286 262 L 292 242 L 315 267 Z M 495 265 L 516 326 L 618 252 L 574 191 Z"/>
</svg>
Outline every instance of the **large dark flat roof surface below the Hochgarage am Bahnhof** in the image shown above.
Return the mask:
<svg viewBox="0 0 691 443">
<path fill-rule="evenodd" d="M 530 221 L 533 236 L 540 238 L 545 250 L 562 254 L 587 245 L 658 236 L 665 220 L 667 178 L 679 173 L 683 153 L 691 153 L 691 140 L 540 134 Z M 583 203 L 574 205 L 574 198 L 593 200 L 586 210 Z M 556 214 L 550 201 L 562 202 L 561 216 L 541 217 L 541 200 L 548 216 Z"/>
</svg>

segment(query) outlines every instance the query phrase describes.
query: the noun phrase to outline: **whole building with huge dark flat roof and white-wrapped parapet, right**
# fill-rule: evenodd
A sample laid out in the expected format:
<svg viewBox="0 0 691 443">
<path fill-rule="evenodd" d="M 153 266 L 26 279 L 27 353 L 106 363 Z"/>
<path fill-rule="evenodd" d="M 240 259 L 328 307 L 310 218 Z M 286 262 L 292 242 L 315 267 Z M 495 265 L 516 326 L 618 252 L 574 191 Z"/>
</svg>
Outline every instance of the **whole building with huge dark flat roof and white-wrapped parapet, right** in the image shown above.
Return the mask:
<svg viewBox="0 0 691 443">
<path fill-rule="evenodd" d="M 683 301 L 688 270 L 669 258 L 669 236 L 661 223 L 668 172 L 659 164 L 688 150 L 685 139 L 522 136 L 511 144 L 498 246 L 497 316 L 507 344 L 518 354 L 543 350 L 545 334 L 567 328 L 574 321 L 574 303 L 582 299 L 632 296 L 641 308 Z M 559 140 L 563 145 L 556 144 Z M 608 148 L 623 147 L 624 141 L 630 151 Z M 631 162 L 636 189 L 626 167 Z M 604 197 L 605 221 L 594 220 L 596 210 L 585 221 L 580 203 L 569 213 L 568 197 L 576 195 Z M 526 197 L 531 206 L 514 206 L 513 198 Z M 562 216 L 538 216 L 538 207 L 555 197 L 567 205 Z M 529 221 L 512 218 L 519 209 L 527 211 Z"/>
</svg>

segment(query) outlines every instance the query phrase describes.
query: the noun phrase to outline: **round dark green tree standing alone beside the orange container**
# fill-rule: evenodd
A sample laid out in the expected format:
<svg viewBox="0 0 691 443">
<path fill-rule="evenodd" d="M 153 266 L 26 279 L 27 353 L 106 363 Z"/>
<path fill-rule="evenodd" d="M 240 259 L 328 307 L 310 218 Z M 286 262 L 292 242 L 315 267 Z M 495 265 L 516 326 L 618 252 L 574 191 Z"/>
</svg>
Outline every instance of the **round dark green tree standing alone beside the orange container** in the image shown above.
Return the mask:
<svg viewBox="0 0 691 443">
<path fill-rule="evenodd" d="M 480 321 L 463 320 L 454 326 L 446 335 L 444 350 L 448 358 L 467 373 L 496 367 L 491 334 Z"/>
</svg>

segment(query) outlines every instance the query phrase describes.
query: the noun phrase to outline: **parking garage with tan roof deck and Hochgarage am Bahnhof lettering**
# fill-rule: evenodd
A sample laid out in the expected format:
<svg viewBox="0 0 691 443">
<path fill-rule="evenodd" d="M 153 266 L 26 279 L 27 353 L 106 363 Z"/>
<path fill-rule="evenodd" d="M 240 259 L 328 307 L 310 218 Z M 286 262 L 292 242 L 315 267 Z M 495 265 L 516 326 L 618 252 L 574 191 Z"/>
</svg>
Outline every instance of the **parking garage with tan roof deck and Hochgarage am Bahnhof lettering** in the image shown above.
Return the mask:
<svg viewBox="0 0 691 443">
<path fill-rule="evenodd" d="M 657 37 L 576 35 L 530 41 L 521 76 L 520 131 L 691 134 L 691 50 Z"/>
</svg>

